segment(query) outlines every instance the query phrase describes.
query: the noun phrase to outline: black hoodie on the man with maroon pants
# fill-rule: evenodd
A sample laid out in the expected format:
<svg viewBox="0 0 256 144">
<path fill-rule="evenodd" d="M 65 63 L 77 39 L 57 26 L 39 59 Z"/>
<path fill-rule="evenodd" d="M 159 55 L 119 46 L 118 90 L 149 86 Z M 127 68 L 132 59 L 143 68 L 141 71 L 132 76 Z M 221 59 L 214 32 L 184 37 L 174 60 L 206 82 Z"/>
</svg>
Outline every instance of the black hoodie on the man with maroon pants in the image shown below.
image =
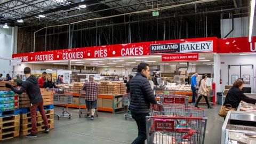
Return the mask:
<svg viewBox="0 0 256 144">
<path fill-rule="evenodd" d="M 30 99 L 30 103 L 32 104 L 43 102 L 43 97 L 40 91 L 38 80 L 33 75 L 28 77 L 26 81 L 22 83 L 20 90 L 15 89 L 13 86 L 11 87 L 11 89 L 18 94 L 22 94 L 26 91 Z"/>
</svg>

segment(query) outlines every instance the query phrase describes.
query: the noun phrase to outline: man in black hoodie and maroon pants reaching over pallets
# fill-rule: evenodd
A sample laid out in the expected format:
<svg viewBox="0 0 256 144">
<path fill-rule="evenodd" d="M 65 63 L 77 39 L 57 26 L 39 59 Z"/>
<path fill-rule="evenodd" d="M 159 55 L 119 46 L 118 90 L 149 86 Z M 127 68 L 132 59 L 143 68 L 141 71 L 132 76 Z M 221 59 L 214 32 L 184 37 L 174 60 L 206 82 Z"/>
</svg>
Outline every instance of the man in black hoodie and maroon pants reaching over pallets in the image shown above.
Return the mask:
<svg viewBox="0 0 256 144">
<path fill-rule="evenodd" d="M 44 119 L 45 132 L 49 132 L 48 119 L 45 115 L 44 107 L 43 107 L 43 97 L 39 88 L 38 80 L 35 76 L 31 76 L 31 70 L 29 67 L 24 69 L 24 74 L 27 77 L 26 81 L 22 83 L 21 89 L 15 89 L 11 84 L 6 84 L 5 86 L 12 89 L 15 93 L 22 94 L 26 91 L 28 97 L 30 99 L 30 115 L 31 115 L 31 124 L 32 130 L 31 133 L 26 135 L 27 138 L 36 138 L 37 130 L 36 130 L 36 109 L 38 107 L 42 118 Z"/>
</svg>

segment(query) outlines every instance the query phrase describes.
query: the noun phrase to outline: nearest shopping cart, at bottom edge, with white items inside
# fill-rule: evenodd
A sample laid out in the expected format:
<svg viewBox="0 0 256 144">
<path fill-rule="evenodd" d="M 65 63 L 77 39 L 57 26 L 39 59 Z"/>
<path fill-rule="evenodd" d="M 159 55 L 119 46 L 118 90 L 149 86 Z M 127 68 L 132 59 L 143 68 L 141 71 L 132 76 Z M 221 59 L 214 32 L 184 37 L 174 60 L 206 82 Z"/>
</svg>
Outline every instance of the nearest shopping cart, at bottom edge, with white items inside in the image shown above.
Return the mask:
<svg viewBox="0 0 256 144">
<path fill-rule="evenodd" d="M 202 144 L 207 118 L 146 116 L 147 143 Z"/>
</svg>

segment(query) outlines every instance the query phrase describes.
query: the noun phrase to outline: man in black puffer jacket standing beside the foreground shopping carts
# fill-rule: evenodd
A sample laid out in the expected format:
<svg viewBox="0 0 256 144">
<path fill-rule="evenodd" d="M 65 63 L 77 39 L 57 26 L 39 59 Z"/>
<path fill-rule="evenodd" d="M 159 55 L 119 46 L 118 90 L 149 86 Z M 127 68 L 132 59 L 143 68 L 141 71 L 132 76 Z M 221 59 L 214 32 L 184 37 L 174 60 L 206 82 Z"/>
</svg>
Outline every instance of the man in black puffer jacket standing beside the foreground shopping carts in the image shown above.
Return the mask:
<svg viewBox="0 0 256 144">
<path fill-rule="evenodd" d="M 149 116 L 150 103 L 157 103 L 147 79 L 148 75 L 148 64 L 140 63 L 140 65 L 138 65 L 138 73 L 130 82 L 131 103 L 129 107 L 132 113 L 132 118 L 135 119 L 139 131 L 138 137 L 132 142 L 132 144 L 145 143 L 145 140 L 147 139 L 146 116 Z"/>
</svg>

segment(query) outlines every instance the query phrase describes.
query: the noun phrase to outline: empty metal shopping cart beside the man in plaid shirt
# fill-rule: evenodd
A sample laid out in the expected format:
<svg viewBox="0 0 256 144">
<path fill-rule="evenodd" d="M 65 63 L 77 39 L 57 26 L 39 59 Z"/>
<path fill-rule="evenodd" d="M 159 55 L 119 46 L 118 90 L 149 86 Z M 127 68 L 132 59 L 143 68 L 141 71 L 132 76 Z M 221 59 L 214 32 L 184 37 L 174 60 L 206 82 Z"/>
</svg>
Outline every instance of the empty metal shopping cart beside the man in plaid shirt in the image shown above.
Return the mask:
<svg viewBox="0 0 256 144">
<path fill-rule="evenodd" d="M 73 93 L 68 91 L 68 89 L 51 89 L 54 90 L 53 94 L 53 103 L 54 105 L 63 105 L 63 109 L 61 111 L 54 110 L 54 115 L 58 116 L 58 120 L 62 117 L 71 118 L 72 114 L 67 111 L 67 104 L 72 103 L 73 101 Z"/>
</svg>

